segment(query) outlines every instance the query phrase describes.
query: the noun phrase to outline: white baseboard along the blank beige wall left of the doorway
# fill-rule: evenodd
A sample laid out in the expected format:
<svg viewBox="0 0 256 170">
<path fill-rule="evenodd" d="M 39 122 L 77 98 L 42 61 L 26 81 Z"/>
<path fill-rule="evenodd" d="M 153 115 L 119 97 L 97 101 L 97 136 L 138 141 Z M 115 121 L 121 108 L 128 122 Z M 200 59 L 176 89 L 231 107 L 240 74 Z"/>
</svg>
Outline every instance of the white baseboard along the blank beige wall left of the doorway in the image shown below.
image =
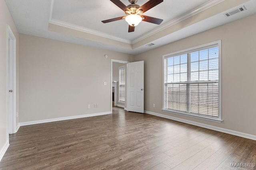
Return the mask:
<svg viewBox="0 0 256 170">
<path fill-rule="evenodd" d="M 92 114 L 87 114 L 87 115 L 59 117 L 59 118 L 54 118 L 54 119 L 45 119 L 45 120 L 38 120 L 38 121 L 27 121 L 27 122 L 21 122 L 19 124 L 20 124 L 20 126 L 35 125 L 35 124 L 39 124 L 39 123 L 49 123 L 49 122 L 54 122 L 54 121 L 79 119 L 79 118 L 84 118 L 84 117 L 92 117 L 92 116 L 100 116 L 100 115 L 108 115 L 108 114 L 111 114 L 111 111 L 103 112 L 103 113 L 92 113 Z"/>
</svg>

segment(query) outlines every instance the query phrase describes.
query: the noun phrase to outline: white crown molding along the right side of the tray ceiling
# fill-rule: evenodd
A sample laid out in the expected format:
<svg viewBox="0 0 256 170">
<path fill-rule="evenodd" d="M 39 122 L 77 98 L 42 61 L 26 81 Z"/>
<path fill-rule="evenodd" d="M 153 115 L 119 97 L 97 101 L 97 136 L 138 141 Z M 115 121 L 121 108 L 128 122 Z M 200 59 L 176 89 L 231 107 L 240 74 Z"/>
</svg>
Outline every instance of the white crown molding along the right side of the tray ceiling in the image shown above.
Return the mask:
<svg viewBox="0 0 256 170">
<path fill-rule="evenodd" d="M 200 13 L 200 12 L 202 12 L 202 11 L 204 11 L 204 10 L 206 10 L 206 9 L 208 9 L 208 8 L 218 4 L 220 2 L 223 2 L 223 1 L 224 0 L 211 0 L 210 2 L 206 2 L 205 4 L 202 4 L 201 6 L 198 6 L 198 8 L 195 8 L 195 9 L 193 9 L 193 10 L 191 10 L 191 11 L 189 11 L 189 12 L 187 12 L 187 13 L 185 13 L 185 14 L 177 17 L 177 18 L 175 18 L 174 20 L 171 20 L 171 21 L 163 24 L 162 26 L 160 26 L 160 27 L 158 27 L 158 28 L 156 28 L 156 29 L 154 29 L 154 30 L 152 30 L 152 31 L 134 39 L 132 41 L 132 44 L 135 44 L 135 43 L 137 43 L 137 42 L 139 42 L 139 41 L 141 41 L 141 40 L 143 40 L 147 37 L 150 37 L 151 35 L 154 35 L 155 33 L 158 33 L 158 32 L 160 32 L 160 31 L 162 31 L 162 30 L 164 30 L 164 29 L 166 29 L 166 28 L 168 28 L 172 25 L 175 25 L 176 23 L 179 23 L 180 21 L 186 20 L 187 18 L 190 18 L 191 16 L 194 16 L 194 15 L 196 15 L 196 14 L 198 14 L 198 13 Z"/>
</svg>

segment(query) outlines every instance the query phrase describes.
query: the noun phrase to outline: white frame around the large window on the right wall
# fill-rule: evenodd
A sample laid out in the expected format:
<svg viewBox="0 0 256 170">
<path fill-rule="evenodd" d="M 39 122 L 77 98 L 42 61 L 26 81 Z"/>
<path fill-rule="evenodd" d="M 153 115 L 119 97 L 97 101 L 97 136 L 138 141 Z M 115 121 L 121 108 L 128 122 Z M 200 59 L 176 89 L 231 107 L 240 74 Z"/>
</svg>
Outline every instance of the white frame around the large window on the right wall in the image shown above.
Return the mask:
<svg viewBox="0 0 256 170">
<path fill-rule="evenodd" d="M 164 94 L 164 59 L 165 58 L 169 58 L 170 56 L 175 56 L 175 55 L 182 55 L 185 54 L 185 53 L 191 53 L 193 51 L 197 51 L 198 49 L 202 49 L 202 48 L 206 48 L 208 49 L 207 47 L 208 46 L 212 46 L 212 45 L 216 45 L 218 46 L 218 50 L 219 50 L 219 56 L 218 56 L 218 92 L 219 92 L 219 98 L 218 98 L 218 117 L 210 117 L 210 116 L 207 116 L 207 115 L 197 115 L 197 114 L 193 114 L 193 113 L 184 113 L 184 112 L 181 112 L 181 111 L 170 111 L 170 110 L 166 110 L 164 109 L 164 103 L 165 103 L 165 94 Z M 203 119 L 203 120 L 208 120 L 208 121 L 214 121 L 214 122 L 218 122 L 218 123 L 221 123 L 222 122 L 222 111 L 221 111 L 221 40 L 219 41 L 214 41 L 214 42 L 211 42 L 211 43 L 206 43 L 204 45 L 199 45 L 199 46 L 196 46 L 196 47 L 192 47 L 192 48 L 189 48 L 189 49 L 184 49 L 184 50 L 181 50 L 181 51 L 176 51 L 174 53 L 170 53 L 170 54 L 166 54 L 166 55 L 163 55 L 162 56 L 162 111 L 164 112 L 167 112 L 167 113 L 174 113 L 174 114 L 178 114 L 178 115 L 184 115 L 184 116 L 188 116 L 188 117 L 194 117 L 194 118 L 198 118 L 198 119 Z"/>
</svg>

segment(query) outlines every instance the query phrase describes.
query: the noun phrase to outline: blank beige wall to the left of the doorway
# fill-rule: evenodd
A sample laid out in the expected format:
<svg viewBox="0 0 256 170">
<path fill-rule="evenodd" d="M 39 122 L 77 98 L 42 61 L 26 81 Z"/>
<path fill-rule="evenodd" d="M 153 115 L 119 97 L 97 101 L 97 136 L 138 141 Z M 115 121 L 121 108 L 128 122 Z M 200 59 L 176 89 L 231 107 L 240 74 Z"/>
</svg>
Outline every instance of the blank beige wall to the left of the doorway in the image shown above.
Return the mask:
<svg viewBox="0 0 256 170">
<path fill-rule="evenodd" d="M 20 122 L 110 112 L 111 59 L 133 58 L 20 34 Z"/>
</svg>

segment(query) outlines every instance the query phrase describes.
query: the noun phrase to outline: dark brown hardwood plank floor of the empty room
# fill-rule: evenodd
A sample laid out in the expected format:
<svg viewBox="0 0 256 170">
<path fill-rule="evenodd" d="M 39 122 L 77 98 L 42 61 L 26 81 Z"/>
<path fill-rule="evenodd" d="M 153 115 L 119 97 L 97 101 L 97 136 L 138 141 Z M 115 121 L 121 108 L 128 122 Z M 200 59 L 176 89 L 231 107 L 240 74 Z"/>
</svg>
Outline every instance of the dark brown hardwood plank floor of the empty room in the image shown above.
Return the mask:
<svg viewBox="0 0 256 170">
<path fill-rule="evenodd" d="M 230 166 L 240 163 L 256 163 L 256 141 L 113 107 L 112 115 L 20 127 L 0 169 L 248 169 Z"/>
</svg>

